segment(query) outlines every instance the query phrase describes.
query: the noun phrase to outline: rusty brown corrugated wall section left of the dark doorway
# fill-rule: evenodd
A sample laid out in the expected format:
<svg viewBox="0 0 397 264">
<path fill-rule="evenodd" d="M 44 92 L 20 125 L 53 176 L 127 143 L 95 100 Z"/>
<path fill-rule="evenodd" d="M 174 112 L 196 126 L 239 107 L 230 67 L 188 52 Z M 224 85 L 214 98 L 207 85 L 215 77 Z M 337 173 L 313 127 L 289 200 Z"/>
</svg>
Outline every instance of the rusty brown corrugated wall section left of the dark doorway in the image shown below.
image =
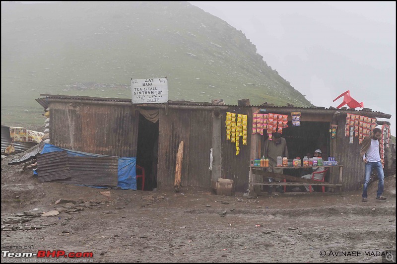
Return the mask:
<svg viewBox="0 0 397 264">
<path fill-rule="evenodd" d="M 49 102 L 50 141 L 77 151 L 135 157 L 138 111 L 132 106 Z"/>
</svg>

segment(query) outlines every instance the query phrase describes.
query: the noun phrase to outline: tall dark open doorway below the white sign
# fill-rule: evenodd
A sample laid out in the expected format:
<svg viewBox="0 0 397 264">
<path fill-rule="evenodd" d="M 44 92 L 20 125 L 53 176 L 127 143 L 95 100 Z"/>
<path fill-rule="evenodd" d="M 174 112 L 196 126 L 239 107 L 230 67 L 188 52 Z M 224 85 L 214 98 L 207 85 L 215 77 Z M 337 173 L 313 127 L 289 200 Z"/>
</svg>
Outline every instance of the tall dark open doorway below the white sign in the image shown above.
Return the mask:
<svg viewBox="0 0 397 264">
<path fill-rule="evenodd" d="M 157 187 L 158 123 L 158 121 L 153 123 L 139 115 L 136 165 L 145 170 L 145 191 L 152 191 Z M 141 178 L 136 180 L 136 185 L 137 190 L 142 190 Z"/>
</svg>

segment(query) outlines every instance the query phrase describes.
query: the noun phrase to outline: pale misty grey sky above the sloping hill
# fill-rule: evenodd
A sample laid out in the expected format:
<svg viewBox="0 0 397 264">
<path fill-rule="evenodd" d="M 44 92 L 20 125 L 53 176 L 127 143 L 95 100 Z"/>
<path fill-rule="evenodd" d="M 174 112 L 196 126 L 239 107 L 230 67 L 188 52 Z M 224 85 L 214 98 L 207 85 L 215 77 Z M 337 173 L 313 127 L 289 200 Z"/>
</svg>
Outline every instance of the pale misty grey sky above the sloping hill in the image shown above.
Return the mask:
<svg viewBox="0 0 397 264">
<path fill-rule="evenodd" d="M 350 90 L 396 135 L 396 2 L 189 2 L 241 30 L 312 104 Z"/>
</svg>

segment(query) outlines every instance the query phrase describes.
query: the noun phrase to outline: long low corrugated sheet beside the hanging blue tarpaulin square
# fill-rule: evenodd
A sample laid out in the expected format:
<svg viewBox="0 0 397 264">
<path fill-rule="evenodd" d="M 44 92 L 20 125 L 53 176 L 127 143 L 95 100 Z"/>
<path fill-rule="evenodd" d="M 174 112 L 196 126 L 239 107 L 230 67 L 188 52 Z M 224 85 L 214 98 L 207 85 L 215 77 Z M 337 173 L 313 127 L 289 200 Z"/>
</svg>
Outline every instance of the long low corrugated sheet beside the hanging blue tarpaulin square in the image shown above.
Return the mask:
<svg viewBox="0 0 397 264">
<path fill-rule="evenodd" d="M 64 183 L 116 187 L 119 161 L 117 157 L 68 157 L 71 179 Z"/>
</svg>

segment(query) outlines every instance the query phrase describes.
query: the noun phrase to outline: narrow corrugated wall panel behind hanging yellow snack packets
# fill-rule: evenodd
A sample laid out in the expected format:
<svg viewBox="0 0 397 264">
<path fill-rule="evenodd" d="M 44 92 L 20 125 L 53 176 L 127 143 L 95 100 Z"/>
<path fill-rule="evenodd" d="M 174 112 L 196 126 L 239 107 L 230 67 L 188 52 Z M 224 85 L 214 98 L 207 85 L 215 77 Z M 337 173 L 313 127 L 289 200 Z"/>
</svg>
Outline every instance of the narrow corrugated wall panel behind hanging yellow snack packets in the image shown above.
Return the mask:
<svg viewBox="0 0 397 264">
<path fill-rule="evenodd" d="M 247 115 L 247 145 L 243 145 L 240 137 L 240 154 L 236 155 L 236 144 L 226 140 L 226 112 Z M 236 192 L 245 192 L 248 189 L 248 177 L 250 171 L 250 152 L 252 136 L 252 110 L 250 107 L 229 107 L 222 111 L 222 164 L 221 176 L 234 181 Z M 237 119 L 236 119 L 237 121 Z"/>
</svg>

